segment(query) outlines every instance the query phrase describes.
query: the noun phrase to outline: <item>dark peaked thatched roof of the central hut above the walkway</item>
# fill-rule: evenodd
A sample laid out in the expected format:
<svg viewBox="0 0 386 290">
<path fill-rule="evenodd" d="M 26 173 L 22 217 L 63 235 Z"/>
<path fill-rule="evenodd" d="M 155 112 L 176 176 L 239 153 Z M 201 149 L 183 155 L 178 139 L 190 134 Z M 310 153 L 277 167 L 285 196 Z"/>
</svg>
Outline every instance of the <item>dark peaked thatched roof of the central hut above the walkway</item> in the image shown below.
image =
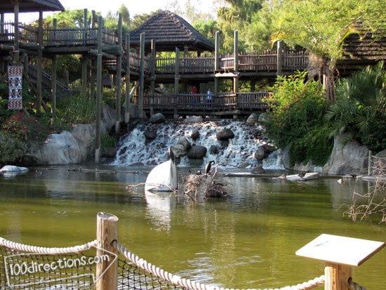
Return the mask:
<svg viewBox="0 0 386 290">
<path fill-rule="evenodd" d="M 200 34 L 192 25 L 170 11 L 161 11 L 147 20 L 137 29 L 130 32 L 130 45 L 140 46 L 140 34 L 145 32 L 145 51 L 150 50 L 152 39 L 156 42 L 157 51 L 175 51 L 184 46 L 189 51 L 214 51 L 215 46 Z"/>
</svg>

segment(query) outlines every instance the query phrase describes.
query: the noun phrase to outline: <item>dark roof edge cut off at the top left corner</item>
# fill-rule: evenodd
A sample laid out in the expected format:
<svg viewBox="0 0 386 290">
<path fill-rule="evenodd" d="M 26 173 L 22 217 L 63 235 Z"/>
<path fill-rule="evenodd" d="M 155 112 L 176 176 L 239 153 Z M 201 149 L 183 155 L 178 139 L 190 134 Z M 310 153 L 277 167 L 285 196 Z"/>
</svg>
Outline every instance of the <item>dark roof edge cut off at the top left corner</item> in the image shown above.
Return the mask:
<svg viewBox="0 0 386 290">
<path fill-rule="evenodd" d="M 13 0 L 0 1 L 0 13 L 13 13 Z M 64 11 L 58 0 L 22 0 L 19 3 L 20 12 Z"/>
</svg>

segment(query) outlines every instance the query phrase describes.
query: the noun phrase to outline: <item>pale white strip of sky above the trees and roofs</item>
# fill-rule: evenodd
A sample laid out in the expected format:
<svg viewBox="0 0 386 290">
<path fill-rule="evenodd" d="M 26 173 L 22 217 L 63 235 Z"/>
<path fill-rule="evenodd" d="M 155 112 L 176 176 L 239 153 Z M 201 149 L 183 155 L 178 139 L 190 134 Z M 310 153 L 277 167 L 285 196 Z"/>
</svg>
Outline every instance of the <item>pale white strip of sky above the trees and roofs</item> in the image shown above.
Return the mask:
<svg viewBox="0 0 386 290">
<path fill-rule="evenodd" d="M 171 10 L 172 4 L 176 3 L 180 8 L 185 7 L 186 1 L 189 0 L 59 0 L 65 9 L 84 9 L 87 8 L 89 11 L 95 10 L 101 12 L 102 16 L 105 16 L 108 11 L 118 11 L 122 4 L 128 8 L 130 17 L 134 15 L 151 13 L 162 10 Z M 213 9 L 213 1 L 215 0 L 190 0 L 190 3 L 197 7 L 197 11 L 208 12 Z M 43 16 L 52 14 L 51 12 L 43 13 Z M 39 19 L 39 13 L 20 13 L 20 22 L 32 22 Z M 6 14 L 6 21 L 13 20 L 13 14 Z"/>
</svg>

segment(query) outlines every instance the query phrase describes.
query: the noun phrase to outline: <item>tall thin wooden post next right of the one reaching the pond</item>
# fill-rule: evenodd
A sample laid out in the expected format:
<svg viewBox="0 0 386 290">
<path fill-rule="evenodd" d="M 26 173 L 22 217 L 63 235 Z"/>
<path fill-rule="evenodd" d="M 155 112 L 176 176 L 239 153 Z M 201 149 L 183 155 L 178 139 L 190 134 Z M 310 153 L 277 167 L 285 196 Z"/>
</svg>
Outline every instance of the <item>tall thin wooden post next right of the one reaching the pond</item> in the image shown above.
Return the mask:
<svg viewBox="0 0 386 290">
<path fill-rule="evenodd" d="M 122 84 L 122 13 L 119 13 L 118 18 L 118 45 L 119 53 L 117 58 L 117 75 L 115 77 L 115 86 L 117 98 L 115 98 L 115 132 L 121 131 L 121 84 Z"/>
</svg>

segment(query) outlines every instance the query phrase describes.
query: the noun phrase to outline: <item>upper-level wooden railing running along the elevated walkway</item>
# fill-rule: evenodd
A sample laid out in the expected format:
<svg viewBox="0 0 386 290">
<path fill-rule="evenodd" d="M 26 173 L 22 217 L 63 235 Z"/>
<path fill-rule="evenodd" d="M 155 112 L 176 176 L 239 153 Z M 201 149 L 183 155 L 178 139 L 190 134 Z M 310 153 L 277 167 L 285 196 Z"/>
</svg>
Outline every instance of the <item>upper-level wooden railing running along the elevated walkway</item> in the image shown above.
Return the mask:
<svg viewBox="0 0 386 290">
<path fill-rule="evenodd" d="M 15 39 L 15 25 L 13 22 L 0 24 L 0 44 L 12 46 Z M 38 28 L 33 25 L 19 25 L 20 51 L 33 52 L 38 48 Z M 102 29 L 103 65 L 107 70 L 117 70 L 117 55 L 119 54 L 118 36 L 109 29 Z M 98 29 L 96 28 L 58 28 L 44 29 L 43 54 L 93 54 L 93 48 L 98 45 Z M 125 47 L 125 46 L 124 46 Z M 0 50 L 1 51 L 1 50 Z M 122 61 L 123 72 L 126 71 L 126 59 L 130 58 L 130 71 L 138 74 L 140 71 L 140 55 L 126 53 Z M 215 74 L 216 72 L 233 72 L 235 63 L 233 55 L 220 56 L 220 65 L 215 69 L 214 57 L 202 58 L 156 58 L 155 73 L 160 76 L 175 74 L 178 67 L 180 74 Z M 178 62 L 178 63 L 177 63 Z M 308 55 L 303 51 L 283 51 L 281 54 L 281 70 L 294 72 L 305 70 L 308 64 Z M 149 75 L 152 63 L 149 56 L 145 56 L 144 70 Z M 278 70 L 277 51 L 265 51 L 263 53 L 248 53 L 238 55 L 238 72 L 243 73 L 267 73 L 275 74 Z M 218 76 L 220 76 L 220 74 Z M 213 77 L 213 76 L 212 76 Z M 162 78 L 162 77 L 161 77 Z"/>
</svg>

